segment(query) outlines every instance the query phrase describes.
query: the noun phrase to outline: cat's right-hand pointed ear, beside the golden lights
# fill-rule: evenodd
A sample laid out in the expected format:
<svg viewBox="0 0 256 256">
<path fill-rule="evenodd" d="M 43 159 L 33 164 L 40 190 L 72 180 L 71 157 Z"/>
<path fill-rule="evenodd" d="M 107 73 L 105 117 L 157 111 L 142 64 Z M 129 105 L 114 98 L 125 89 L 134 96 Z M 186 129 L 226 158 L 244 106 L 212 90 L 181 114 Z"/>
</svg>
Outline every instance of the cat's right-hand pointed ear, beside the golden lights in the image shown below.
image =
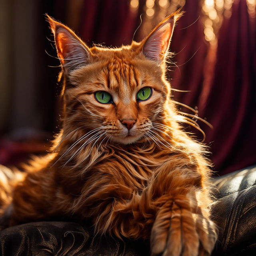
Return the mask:
<svg viewBox="0 0 256 256">
<path fill-rule="evenodd" d="M 170 14 L 142 41 L 142 52 L 147 58 L 156 61 L 166 58 L 175 23 L 182 14 L 180 10 Z"/>
</svg>

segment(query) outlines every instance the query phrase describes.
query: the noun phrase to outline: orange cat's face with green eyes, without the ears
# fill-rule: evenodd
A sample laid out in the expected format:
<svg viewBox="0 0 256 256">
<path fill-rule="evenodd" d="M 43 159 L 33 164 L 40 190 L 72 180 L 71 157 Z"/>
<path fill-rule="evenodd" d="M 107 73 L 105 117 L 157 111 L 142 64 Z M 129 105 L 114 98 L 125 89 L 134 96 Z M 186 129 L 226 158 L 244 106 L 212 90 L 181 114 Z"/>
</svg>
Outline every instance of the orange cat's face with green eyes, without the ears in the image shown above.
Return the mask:
<svg viewBox="0 0 256 256">
<path fill-rule="evenodd" d="M 104 136 L 123 144 L 146 136 L 168 94 L 161 68 L 143 56 L 130 58 L 132 50 L 92 52 L 96 63 L 70 73 L 74 88 L 65 92 L 73 110 L 68 120 L 84 128 L 103 126 Z"/>
</svg>

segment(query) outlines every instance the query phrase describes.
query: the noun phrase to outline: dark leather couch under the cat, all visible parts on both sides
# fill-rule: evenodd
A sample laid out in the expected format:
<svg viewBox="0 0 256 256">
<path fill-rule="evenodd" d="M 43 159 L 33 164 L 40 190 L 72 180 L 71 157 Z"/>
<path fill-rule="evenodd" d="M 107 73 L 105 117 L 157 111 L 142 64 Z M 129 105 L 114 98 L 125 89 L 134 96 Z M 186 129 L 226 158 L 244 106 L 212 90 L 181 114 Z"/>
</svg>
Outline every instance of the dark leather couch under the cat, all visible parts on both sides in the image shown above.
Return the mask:
<svg viewBox="0 0 256 256">
<path fill-rule="evenodd" d="M 256 255 L 256 166 L 216 178 L 213 216 L 219 238 L 212 255 Z M 149 243 L 93 237 L 74 222 L 34 222 L 0 231 L 1 255 L 146 256 Z"/>
</svg>

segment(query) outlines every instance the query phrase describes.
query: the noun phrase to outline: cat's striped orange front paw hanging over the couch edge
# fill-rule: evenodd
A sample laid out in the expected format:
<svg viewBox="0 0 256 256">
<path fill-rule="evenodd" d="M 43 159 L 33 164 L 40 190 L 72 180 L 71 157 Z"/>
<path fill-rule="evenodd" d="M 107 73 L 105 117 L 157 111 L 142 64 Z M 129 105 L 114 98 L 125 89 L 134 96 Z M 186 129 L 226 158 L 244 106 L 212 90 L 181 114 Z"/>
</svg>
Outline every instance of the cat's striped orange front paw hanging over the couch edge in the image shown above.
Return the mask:
<svg viewBox="0 0 256 256">
<path fill-rule="evenodd" d="M 215 225 L 201 214 L 166 202 L 158 211 L 150 240 L 152 256 L 206 256 L 214 248 Z"/>
</svg>

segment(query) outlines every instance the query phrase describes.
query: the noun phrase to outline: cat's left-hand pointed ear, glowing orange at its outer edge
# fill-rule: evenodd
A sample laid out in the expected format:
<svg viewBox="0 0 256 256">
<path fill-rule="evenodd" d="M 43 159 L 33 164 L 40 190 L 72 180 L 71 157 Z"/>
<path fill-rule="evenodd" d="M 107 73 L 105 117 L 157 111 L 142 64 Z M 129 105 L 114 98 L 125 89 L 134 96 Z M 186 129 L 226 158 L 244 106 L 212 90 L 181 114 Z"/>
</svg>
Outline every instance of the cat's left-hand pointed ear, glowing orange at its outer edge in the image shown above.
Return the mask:
<svg viewBox="0 0 256 256">
<path fill-rule="evenodd" d="M 91 52 L 84 42 L 67 26 L 50 16 L 48 22 L 55 38 L 60 62 L 65 73 L 90 63 Z"/>
</svg>

